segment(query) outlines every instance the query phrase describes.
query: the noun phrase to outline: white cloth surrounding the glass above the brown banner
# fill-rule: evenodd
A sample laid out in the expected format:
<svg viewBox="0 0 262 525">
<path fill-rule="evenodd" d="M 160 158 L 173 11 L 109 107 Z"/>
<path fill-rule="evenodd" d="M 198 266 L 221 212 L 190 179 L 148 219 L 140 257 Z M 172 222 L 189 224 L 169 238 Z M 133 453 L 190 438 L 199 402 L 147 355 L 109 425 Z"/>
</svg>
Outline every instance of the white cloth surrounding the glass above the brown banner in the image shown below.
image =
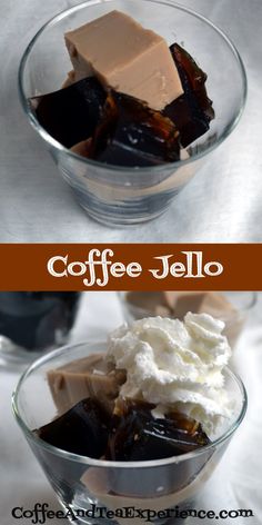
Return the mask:
<svg viewBox="0 0 262 525">
<path fill-rule="evenodd" d="M 234 41 L 248 71 L 248 106 L 212 164 L 196 175 L 170 210 L 128 230 L 110 230 L 80 209 L 18 101 L 17 70 L 23 49 L 44 21 L 75 3 L 0 1 L 0 242 L 262 241 L 261 0 L 181 0 Z"/>
</svg>

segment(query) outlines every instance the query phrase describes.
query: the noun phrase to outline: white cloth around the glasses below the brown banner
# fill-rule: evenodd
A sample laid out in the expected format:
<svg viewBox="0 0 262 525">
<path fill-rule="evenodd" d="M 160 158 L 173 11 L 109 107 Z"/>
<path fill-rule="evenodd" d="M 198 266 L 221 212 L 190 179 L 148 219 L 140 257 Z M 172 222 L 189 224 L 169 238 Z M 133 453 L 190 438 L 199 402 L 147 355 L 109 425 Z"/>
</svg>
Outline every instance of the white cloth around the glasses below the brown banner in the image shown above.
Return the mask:
<svg viewBox="0 0 262 525">
<path fill-rule="evenodd" d="M 109 330 L 122 321 L 122 311 L 114 293 L 87 293 L 81 316 L 72 334 L 72 340 L 102 339 Z M 238 525 L 261 525 L 262 523 L 262 424 L 261 424 L 261 377 L 262 377 L 262 294 L 259 303 L 234 351 L 232 363 L 248 389 L 248 414 L 231 442 L 220 466 L 208 483 L 201 507 L 205 509 L 252 509 L 254 517 L 236 518 Z M 11 414 L 11 393 L 19 373 L 0 367 L 0 523 L 1 525 L 29 525 L 28 519 L 13 519 L 11 509 L 22 506 L 33 508 L 34 503 L 47 502 L 50 508 L 58 508 L 54 494 L 40 466 L 30 452 L 24 437 Z M 48 525 L 68 522 L 52 519 Z M 210 525 L 210 519 L 199 523 Z M 223 521 L 230 525 L 231 521 Z M 192 521 L 192 525 L 198 521 Z M 191 522 L 187 522 L 191 525 Z"/>
</svg>

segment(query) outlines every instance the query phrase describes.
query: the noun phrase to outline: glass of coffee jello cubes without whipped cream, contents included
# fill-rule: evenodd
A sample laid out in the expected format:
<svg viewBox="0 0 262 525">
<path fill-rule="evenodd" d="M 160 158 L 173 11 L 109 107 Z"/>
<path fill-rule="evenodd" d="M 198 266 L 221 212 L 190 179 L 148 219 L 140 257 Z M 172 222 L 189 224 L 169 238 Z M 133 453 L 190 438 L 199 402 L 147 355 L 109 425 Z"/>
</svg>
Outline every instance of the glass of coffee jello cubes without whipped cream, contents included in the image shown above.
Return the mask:
<svg viewBox="0 0 262 525">
<path fill-rule="evenodd" d="M 229 136 L 246 79 L 234 46 L 195 12 L 95 0 L 40 29 L 19 89 L 80 205 L 123 226 L 161 215 Z"/>
</svg>

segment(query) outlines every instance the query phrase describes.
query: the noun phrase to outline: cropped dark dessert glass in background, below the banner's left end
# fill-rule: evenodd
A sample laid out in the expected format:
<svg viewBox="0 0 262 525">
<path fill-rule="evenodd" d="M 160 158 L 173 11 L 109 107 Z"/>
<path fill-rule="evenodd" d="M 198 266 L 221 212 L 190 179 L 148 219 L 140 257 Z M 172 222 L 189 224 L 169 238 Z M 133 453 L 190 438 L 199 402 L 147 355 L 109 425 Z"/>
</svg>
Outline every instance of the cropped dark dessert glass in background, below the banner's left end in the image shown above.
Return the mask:
<svg viewBox="0 0 262 525">
<path fill-rule="evenodd" d="M 0 291 L 0 358 L 27 364 L 68 341 L 78 291 Z"/>
</svg>

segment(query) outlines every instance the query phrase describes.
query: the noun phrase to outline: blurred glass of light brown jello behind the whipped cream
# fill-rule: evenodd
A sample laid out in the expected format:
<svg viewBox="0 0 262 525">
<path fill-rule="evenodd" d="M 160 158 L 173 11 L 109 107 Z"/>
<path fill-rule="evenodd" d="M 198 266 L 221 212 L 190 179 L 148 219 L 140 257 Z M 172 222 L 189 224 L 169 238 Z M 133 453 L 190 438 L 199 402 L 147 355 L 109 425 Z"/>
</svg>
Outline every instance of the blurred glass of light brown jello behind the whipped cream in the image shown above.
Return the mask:
<svg viewBox="0 0 262 525">
<path fill-rule="evenodd" d="M 158 315 L 183 319 L 189 310 L 210 314 L 224 321 L 231 348 L 256 303 L 254 291 L 120 291 L 119 298 L 128 323 Z"/>
</svg>

